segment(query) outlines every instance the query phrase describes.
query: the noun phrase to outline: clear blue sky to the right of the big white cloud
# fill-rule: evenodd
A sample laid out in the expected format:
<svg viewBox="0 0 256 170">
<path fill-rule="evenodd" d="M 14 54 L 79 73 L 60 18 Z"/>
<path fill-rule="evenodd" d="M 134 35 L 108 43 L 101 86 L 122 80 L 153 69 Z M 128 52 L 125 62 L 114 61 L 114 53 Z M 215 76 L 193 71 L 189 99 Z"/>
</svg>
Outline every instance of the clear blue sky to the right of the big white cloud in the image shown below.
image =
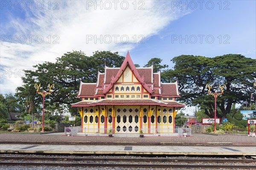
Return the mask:
<svg viewBox="0 0 256 170">
<path fill-rule="evenodd" d="M 255 1 L 233 0 L 229 2 L 230 10 L 219 10 L 218 4 L 215 3 L 216 8 L 213 10 L 197 9 L 180 17 L 163 28 L 158 35 L 150 37 L 144 45 L 135 48 L 135 55 L 143 58 L 160 57 L 166 63 L 181 54 L 215 57 L 232 53 L 256 59 Z M 179 39 L 172 42 L 173 38 L 177 39 L 176 35 Z M 180 36 L 186 39 L 186 35 L 188 43 L 186 40 L 180 43 Z M 197 37 L 196 42 L 192 39 L 193 35 Z M 198 35 L 204 35 L 202 43 Z M 210 44 L 211 35 L 214 37 L 212 44 Z M 224 37 L 225 35 L 227 36 Z M 191 36 L 190 41 L 189 36 Z M 207 36 L 209 36 L 208 42 Z M 131 51 L 132 54 L 133 51 Z M 139 59 L 135 62 L 143 63 Z"/>
</svg>

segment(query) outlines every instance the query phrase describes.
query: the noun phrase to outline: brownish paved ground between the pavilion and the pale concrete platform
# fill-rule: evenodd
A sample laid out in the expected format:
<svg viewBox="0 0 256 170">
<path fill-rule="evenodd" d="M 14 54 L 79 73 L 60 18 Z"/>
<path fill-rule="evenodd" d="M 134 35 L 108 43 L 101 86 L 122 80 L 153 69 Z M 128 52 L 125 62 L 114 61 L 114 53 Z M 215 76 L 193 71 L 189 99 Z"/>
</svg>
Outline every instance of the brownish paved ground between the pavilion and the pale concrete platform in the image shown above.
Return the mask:
<svg viewBox="0 0 256 170">
<path fill-rule="evenodd" d="M 254 146 L 256 138 L 241 135 L 215 136 L 194 133 L 192 136 L 65 136 L 64 133 L 9 134 L 0 133 L 1 144 L 91 144 L 91 145 L 197 145 L 197 146 Z"/>
</svg>

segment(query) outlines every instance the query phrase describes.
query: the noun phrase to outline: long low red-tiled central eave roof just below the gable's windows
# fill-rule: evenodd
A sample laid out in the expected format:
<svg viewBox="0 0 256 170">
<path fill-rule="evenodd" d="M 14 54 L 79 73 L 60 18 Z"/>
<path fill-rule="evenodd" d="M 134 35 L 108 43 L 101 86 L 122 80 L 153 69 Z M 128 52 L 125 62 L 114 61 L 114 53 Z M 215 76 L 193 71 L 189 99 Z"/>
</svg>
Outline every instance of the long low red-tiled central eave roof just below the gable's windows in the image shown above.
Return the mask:
<svg viewBox="0 0 256 170">
<path fill-rule="evenodd" d="M 93 102 L 94 105 L 161 105 L 164 102 L 153 99 L 103 99 Z"/>
</svg>

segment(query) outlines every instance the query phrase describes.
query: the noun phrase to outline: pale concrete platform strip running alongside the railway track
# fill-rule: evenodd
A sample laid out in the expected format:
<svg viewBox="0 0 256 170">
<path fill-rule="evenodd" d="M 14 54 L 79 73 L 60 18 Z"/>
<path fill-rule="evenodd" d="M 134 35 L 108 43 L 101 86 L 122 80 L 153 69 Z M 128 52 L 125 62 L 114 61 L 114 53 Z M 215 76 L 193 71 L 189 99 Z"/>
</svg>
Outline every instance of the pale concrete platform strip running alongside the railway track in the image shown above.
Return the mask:
<svg viewBox="0 0 256 170">
<path fill-rule="evenodd" d="M 256 156 L 256 147 L 1 144 L 0 153 Z"/>
</svg>

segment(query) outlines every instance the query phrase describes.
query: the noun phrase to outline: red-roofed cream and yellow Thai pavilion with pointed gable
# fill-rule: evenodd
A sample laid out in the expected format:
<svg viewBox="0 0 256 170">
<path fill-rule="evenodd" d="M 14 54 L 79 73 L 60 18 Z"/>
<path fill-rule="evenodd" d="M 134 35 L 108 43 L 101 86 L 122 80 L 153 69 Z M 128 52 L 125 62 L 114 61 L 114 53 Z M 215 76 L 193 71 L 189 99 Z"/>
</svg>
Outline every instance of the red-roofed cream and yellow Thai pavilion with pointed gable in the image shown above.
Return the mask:
<svg viewBox="0 0 256 170">
<path fill-rule="evenodd" d="M 177 81 L 162 83 L 153 65 L 136 68 L 129 52 L 120 68 L 105 66 L 96 83 L 80 82 L 72 104 L 82 117 L 83 132 L 90 133 L 175 133 L 175 116 L 184 104 Z"/>
</svg>

